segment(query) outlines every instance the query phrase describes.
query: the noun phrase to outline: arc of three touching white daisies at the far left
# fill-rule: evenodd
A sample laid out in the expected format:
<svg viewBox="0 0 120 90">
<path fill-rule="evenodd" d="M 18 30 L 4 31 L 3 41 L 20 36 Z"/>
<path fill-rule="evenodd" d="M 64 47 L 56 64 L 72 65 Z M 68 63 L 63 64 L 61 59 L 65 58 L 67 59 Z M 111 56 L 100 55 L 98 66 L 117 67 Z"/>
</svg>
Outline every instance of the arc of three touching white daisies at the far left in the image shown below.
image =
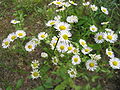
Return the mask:
<svg viewBox="0 0 120 90">
<path fill-rule="evenodd" d="M 2 42 L 3 48 L 8 48 L 10 46 L 10 42 L 13 42 L 17 38 L 24 38 L 26 36 L 26 32 L 23 30 L 17 30 L 16 32 L 10 33 L 7 38 L 5 38 Z"/>
</svg>

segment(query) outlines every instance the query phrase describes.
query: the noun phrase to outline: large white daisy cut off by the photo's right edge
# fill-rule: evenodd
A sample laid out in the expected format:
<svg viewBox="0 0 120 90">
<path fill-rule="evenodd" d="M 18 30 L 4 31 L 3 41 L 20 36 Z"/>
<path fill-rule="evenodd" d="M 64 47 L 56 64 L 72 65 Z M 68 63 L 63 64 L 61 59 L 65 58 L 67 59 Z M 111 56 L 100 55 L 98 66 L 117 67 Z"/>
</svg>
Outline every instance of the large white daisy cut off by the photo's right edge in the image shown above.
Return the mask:
<svg viewBox="0 0 120 90">
<path fill-rule="evenodd" d="M 120 59 L 119 58 L 116 58 L 116 57 L 111 58 L 109 61 L 109 64 L 113 69 L 120 69 Z"/>
</svg>

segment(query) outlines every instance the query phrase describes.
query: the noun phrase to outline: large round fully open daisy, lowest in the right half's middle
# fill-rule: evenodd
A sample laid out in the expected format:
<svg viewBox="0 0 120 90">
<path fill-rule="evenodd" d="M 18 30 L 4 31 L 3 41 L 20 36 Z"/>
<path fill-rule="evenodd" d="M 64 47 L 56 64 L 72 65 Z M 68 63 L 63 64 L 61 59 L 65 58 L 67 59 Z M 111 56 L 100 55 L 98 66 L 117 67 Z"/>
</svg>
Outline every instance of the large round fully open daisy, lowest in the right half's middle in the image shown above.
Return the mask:
<svg viewBox="0 0 120 90">
<path fill-rule="evenodd" d="M 94 70 L 96 70 L 97 69 L 97 62 L 96 62 L 96 60 L 88 60 L 87 62 L 86 62 L 86 68 L 87 68 L 87 70 L 89 70 L 89 71 L 94 71 Z"/>
</svg>

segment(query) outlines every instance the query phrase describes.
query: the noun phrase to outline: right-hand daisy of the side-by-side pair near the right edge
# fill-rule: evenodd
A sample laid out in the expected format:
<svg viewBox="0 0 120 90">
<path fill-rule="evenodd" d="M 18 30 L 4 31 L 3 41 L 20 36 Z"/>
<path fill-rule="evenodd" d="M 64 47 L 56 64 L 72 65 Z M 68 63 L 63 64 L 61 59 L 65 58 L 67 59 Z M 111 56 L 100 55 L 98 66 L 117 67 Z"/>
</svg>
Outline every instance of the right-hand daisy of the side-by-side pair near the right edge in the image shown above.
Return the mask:
<svg viewBox="0 0 120 90">
<path fill-rule="evenodd" d="M 118 35 L 114 33 L 104 33 L 104 39 L 110 43 L 117 41 Z"/>
</svg>

